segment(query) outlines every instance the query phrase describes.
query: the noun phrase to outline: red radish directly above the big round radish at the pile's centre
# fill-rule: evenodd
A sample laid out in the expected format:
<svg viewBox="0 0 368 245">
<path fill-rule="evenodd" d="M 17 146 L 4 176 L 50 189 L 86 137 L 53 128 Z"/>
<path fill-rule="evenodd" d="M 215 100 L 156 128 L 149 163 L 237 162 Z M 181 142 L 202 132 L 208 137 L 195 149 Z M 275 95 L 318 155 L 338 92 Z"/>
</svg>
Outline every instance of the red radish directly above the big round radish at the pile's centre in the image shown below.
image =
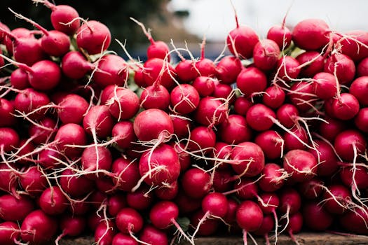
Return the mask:
<svg viewBox="0 0 368 245">
<path fill-rule="evenodd" d="M 144 109 L 155 108 L 165 111 L 170 105 L 170 94 L 166 87 L 155 82 L 154 85 L 144 88 L 139 103 Z"/>
</svg>

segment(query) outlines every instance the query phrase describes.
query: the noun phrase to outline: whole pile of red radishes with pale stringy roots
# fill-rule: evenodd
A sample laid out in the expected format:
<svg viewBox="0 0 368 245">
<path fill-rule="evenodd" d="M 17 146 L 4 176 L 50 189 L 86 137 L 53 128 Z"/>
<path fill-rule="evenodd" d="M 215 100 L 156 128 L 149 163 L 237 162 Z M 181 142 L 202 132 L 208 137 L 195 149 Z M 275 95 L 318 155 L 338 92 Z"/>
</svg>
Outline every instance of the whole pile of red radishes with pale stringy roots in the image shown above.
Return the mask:
<svg viewBox="0 0 368 245">
<path fill-rule="evenodd" d="M 0 244 L 368 235 L 368 31 L 284 20 L 260 38 L 236 18 L 212 60 L 132 19 L 139 62 L 102 22 L 33 1 L 54 29 L 0 23 Z"/>
</svg>

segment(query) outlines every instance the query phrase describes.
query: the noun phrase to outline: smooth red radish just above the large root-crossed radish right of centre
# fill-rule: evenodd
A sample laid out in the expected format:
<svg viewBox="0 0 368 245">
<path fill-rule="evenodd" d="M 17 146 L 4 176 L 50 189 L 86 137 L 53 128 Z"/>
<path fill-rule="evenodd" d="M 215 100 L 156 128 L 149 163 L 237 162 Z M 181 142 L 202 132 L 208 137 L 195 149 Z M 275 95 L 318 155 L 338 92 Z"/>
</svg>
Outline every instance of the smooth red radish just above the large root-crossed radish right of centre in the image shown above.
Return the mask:
<svg viewBox="0 0 368 245">
<path fill-rule="evenodd" d="M 219 125 L 218 135 L 227 144 L 239 144 L 250 141 L 252 130 L 248 127 L 245 117 L 232 114 Z"/>
</svg>

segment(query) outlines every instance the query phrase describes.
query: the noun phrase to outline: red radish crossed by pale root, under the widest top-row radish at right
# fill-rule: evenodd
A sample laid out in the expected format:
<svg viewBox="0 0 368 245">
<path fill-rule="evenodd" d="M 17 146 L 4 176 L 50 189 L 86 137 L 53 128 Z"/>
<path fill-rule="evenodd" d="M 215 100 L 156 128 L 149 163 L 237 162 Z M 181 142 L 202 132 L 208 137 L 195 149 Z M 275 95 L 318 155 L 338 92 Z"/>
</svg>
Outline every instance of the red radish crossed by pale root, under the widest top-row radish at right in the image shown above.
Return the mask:
<svg viewBox="0 0 368 245">
<path fill-rule="evenodd" d="M 325 58 L 317 51 L 302 52 L 296 57 L 301 66 L 300 76 L 311 78 L 315 74 L 322 72 L 325 66 Z"/>
</svg>

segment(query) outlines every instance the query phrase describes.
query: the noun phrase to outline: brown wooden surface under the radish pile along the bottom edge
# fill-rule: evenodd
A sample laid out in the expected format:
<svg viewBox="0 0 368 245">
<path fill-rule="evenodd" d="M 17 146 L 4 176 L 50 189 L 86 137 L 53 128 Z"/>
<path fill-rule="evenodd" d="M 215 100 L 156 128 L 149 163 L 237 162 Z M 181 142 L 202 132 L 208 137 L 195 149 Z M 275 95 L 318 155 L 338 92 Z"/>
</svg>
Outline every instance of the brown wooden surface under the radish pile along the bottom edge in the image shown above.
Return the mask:
<svg viewBox="0 0 368 245">
<path fill-rule="evenodd" d="M 295 235 L 298 243 L 300 245 L 363 245 L 368 244 L 368 237 L 364 236 L 342 236 L 342 235 L 332 235 L 332 234 L 320 234 L 320 233 L 302 233 Z M 196 240 L 196 245 L 243 245 L 242 237 L 198 237 Z M 257 244 L 265 244 L 265 240 L 261 238 L 256 239 Z M 274 244 L 274 239 L 270 239 L 271 244 Z M 93 244 L 92 237 L 82 237 L 79 239 L 62 239 L 60 245 L 87 245 Z M 189 245 L 189 242 L 182 241 L 180 243 L 175 243 L 180 245 Z M 248 238 L 248 244 L 254 244 L 251 239 Z M 295 241 L 292 241 L 290 237 L 282 235 L 278 237 L 278 244 L 280 245 L 295 245 Z"/>
</svg>

